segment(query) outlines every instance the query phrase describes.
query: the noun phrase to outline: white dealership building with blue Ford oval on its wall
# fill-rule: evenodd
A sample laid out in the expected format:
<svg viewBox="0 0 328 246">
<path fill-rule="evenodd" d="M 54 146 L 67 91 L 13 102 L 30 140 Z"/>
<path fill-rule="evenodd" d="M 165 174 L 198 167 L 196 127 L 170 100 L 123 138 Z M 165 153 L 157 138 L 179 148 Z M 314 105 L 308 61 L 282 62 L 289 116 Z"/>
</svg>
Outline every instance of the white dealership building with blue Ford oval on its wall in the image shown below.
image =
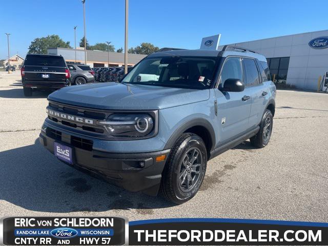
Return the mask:
<svg viewBox="0 0 328 246">
<path fill-rule="evenodd" d="M 231 45 L 248 48 L 267 57 L 271 76 L 277 83 L 317 90 L 319 77 L 328 72 L 328 30 Z"/>
</svg>

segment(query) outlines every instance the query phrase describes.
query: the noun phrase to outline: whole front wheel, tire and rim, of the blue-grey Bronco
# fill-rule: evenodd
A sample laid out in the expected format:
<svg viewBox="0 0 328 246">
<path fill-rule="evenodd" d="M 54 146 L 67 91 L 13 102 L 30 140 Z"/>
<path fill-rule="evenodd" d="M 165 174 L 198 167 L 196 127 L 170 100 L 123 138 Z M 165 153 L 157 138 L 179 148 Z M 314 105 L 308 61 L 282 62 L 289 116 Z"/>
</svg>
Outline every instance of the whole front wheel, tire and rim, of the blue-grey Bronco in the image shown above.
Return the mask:
<svg viewBox="0 0 328 246">
<path fill-rule="evenodd" d="M 194 162 L 193 156 L 197 157 Z M 206 166 L 207 149 L 203 139 L 193 133 L 183 133 L 176 141 L 162 173 L 160 193 L 176 204 L 190 200 L 201 186 Z"/>
</svg>

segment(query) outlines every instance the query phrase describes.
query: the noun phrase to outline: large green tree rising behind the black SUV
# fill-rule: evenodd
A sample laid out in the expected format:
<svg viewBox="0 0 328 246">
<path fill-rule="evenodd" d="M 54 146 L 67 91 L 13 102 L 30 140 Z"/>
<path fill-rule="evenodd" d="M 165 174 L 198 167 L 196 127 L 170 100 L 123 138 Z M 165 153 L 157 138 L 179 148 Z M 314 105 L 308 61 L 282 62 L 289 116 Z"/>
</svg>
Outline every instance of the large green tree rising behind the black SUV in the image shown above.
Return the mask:
<svg viewBox="0 0 328 246">
<path fill-rule="evenodd" d="M 58 35 L 48 35 L 46 37 L 37 37 L 31 42 L 28 54 L 47 54 L 50 47 L 72 48 L 70 42 L 65 42 Z"/>
</svg>

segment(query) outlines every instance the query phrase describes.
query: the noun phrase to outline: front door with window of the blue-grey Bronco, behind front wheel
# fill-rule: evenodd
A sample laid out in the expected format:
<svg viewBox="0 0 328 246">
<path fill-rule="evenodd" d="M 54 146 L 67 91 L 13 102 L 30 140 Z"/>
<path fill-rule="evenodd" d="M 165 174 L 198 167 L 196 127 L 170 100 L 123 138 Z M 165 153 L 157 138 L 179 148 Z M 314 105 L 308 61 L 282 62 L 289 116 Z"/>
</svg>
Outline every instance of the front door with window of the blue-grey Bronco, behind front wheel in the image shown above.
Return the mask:
<svg viewBox="0 0 328 246">
<path fill-rule="evenodd" d="M 228 78 L 244 80 L 240 57 L 227 57 L 221 69 L 219 87 Z M 244 134 L 249 129 L 252 106 L 251 90 L 245 87 L 242 92 L 221 92 L 215 89 L 217 99 L 217 130 L 222 145 Z M 243 99 L 244 98 L 244 99 Z M 248 98 L 248 99 L 245 99 Z"/>
</svg>

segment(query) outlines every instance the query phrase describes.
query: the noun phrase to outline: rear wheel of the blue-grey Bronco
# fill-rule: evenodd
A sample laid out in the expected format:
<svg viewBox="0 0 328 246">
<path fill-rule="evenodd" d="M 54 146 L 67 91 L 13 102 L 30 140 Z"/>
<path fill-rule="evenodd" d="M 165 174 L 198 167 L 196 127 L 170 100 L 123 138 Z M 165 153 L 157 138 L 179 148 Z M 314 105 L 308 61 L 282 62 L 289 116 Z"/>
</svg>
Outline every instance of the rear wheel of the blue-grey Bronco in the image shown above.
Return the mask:
<svg viewBox="0 0 328 246">
<path fill-rule="evenodd" d="M 257 148 L 264 148 L 269 144 L 273 127 L 273 116 L 269 109 L 267 109 L 262 117 L 260 130 L 251 137 L 251 144 Z"/>
</svg>

